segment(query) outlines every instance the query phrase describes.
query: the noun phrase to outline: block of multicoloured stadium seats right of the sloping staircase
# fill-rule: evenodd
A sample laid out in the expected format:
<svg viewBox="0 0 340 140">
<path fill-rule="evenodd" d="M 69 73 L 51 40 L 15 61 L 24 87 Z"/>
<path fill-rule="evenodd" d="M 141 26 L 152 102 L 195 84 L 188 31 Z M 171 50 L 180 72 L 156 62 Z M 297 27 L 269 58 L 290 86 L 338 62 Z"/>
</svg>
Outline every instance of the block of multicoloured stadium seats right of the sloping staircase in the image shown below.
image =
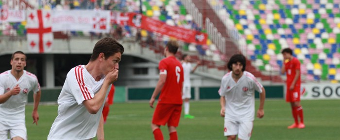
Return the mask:
<svg viewBox="0 0 340 140">
<path fill-rule="evenodd" d="M 308 81 L 340 81 L 340 0 L 208 0 L 234 21 L 259 70 L 279 71 L 291 48 Z"/>
</svg>

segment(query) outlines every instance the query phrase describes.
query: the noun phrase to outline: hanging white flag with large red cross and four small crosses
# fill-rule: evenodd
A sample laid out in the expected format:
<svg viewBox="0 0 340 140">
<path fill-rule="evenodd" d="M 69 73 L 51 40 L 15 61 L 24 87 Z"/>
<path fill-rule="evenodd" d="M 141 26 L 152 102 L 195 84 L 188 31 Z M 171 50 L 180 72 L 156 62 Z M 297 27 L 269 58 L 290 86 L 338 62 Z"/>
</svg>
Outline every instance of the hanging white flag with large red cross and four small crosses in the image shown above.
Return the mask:
<svg viewBox="0 0 340 140">
<path fill-rule="evenodd" d="M 26 28 L 30 52 L 51 52 L 53 42 L 51 11 L 29 10 Z"/>
</svg>

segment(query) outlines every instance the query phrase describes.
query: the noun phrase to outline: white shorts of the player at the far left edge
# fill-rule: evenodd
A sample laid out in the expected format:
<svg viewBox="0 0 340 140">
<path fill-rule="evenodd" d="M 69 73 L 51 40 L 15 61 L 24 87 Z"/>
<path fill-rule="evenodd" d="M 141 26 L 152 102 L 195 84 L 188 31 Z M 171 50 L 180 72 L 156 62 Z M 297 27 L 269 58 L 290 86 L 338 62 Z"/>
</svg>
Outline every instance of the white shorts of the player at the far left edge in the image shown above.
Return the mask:
<svg viewBox="0 0 340 140">
<path fill-rule="evenodd" d="M 8 133 L 10 134 L 10 139 L 14 137 L 20 137 L 27 140 L 27 130 L 25 122 L 4 122 L 0 121 L 0 140 L 8 140 Z"/>
</svg>

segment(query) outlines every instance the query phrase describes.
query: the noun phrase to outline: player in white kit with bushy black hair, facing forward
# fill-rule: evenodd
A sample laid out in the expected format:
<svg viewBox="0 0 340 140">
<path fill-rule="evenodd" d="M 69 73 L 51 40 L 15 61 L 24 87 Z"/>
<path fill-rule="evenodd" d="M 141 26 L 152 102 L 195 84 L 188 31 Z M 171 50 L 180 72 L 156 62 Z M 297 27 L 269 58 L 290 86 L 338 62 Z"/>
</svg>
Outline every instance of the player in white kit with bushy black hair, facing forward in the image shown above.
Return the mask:
<svg viewBox="0 0 340 140">
<path fill-rule="evenodd" d="M 264 116 L 263 106 L 266 92 L 253 74 L 245 71 L 246 58 L 242 54 L 233 55 L 227 67 L 230 72 L 221 81 L 221 116 L 224 117 L 224 136 L 227 140 L 249 140 L 255 115 L 255 90 L 260 93 L 257 117 Z"/>
</svg>

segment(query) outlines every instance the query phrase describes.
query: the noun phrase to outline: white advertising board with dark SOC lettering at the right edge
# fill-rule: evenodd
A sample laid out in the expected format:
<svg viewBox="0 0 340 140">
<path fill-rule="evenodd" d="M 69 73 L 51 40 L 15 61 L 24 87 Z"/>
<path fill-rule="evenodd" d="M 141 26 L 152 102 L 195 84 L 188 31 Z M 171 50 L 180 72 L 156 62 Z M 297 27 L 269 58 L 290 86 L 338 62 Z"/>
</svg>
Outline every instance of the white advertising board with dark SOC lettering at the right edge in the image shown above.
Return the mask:
<svg viewBox="0 0 340 140">
<path fill-rule="evenodd" d="M 305 99 L 340 99 L 339 84 L 301 84 L 305 93 L 301 95 L 301 100 Z"/>
</svg>

